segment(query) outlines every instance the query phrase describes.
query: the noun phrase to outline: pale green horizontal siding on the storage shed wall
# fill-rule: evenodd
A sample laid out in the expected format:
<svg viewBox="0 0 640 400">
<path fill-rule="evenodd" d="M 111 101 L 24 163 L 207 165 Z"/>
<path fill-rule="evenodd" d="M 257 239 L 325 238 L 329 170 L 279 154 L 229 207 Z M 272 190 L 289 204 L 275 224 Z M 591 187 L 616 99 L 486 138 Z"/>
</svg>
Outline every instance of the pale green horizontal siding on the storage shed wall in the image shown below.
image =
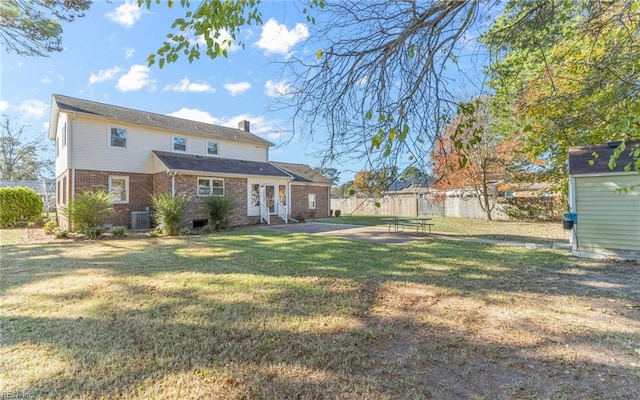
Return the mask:
<svg viewBox="0 0 640 400">
<path fill-rule="evenodd" d="M 574 251 L 590 257 L 640 255 L 640 174 L 574 178 Z M 635 190 L 620 193 L 634 185 Z"/>
</svg>

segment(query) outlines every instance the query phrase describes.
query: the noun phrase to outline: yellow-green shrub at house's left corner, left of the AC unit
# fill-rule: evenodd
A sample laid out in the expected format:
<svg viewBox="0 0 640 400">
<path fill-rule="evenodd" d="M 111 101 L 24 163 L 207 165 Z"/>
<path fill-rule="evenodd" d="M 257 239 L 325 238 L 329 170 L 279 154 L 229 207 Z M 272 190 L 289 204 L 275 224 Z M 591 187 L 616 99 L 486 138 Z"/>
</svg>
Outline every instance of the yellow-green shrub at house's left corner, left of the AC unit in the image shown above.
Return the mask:
<svg viewBox="0 0 640 400">
<path fill-rule="evenodd" d="M 87 230 L 102 227 L 112 211 L 111 196 L 106 190 L 85 190 L 62 213 L 69 218 L 75 231 L 89 236 Z"/>
</svg>

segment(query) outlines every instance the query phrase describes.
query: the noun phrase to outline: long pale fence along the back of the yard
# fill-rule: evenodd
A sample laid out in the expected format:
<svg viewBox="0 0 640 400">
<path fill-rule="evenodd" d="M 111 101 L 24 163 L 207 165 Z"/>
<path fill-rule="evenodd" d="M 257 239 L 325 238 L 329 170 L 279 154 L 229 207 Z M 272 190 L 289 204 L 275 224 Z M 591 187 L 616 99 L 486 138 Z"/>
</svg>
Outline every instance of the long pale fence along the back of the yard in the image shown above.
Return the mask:
<svg viewBox="0 0 640 400">
<path fill-rule="evenodd" d="M 494 200 L 490 200 L 494 203 Z M 415 217 L 434 215 L 452 218 L 485 219 L 486 213 L 480 207 L 477 198 L 447 198 L 434 203 L 427 199 L 411 198 L 357 198 L 331 199 L 331 209 L 340 210 L 342 215 L 380 215 Z M 494 220 L 508 220 L 502 211 L 502 204 L 496 204 L 491 217 Z"/>
</svg>

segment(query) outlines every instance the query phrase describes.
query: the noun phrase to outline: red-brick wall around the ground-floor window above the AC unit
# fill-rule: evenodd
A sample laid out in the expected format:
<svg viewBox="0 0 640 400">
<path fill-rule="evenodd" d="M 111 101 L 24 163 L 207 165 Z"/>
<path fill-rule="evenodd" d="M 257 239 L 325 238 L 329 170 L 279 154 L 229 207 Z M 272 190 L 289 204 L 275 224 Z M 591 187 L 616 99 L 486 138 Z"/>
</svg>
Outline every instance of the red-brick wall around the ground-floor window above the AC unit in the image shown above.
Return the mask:
<svg viewBox="0 0 640 400">
<path fill-rule="evenodd" d="M 107 224 L 131 228 L 131 212 L 145 211 L 147 207 L 152 206 L 153 176 L 151 174 L 76 170 L 75 193 L 81 194 L 85 190 L 108 190 L 110 175 L 129 177 L 129 203 L 114 204 L 113 212 L 107 218 Z"/>
</svg>

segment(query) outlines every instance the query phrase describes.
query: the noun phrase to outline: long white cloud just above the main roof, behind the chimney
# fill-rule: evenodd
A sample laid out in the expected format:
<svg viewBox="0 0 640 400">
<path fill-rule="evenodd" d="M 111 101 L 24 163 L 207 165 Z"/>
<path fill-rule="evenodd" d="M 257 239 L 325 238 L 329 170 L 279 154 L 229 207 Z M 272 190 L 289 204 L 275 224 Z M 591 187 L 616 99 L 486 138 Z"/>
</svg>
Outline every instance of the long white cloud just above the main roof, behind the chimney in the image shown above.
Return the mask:
<svg viewBox="0 0 640 400">
<path fill-rule="evenodd" d="M 246 120 L 251 123 L 251 133 L 262 136 L 268 140 L 279 139 L 286 133 L 284 129 L 279 127 L 278 120 L 269 120 L 261 116 L 250 114 L 238 114 L 218 118 L 209 114 L 207 111 L 195 108 L 181 108 L 180 110 L 167 115 L 192 121 L 200 121 L 207 124 L 226 126 L 229 128 L 237 128 L 240 121 Z"/>
</svg>

